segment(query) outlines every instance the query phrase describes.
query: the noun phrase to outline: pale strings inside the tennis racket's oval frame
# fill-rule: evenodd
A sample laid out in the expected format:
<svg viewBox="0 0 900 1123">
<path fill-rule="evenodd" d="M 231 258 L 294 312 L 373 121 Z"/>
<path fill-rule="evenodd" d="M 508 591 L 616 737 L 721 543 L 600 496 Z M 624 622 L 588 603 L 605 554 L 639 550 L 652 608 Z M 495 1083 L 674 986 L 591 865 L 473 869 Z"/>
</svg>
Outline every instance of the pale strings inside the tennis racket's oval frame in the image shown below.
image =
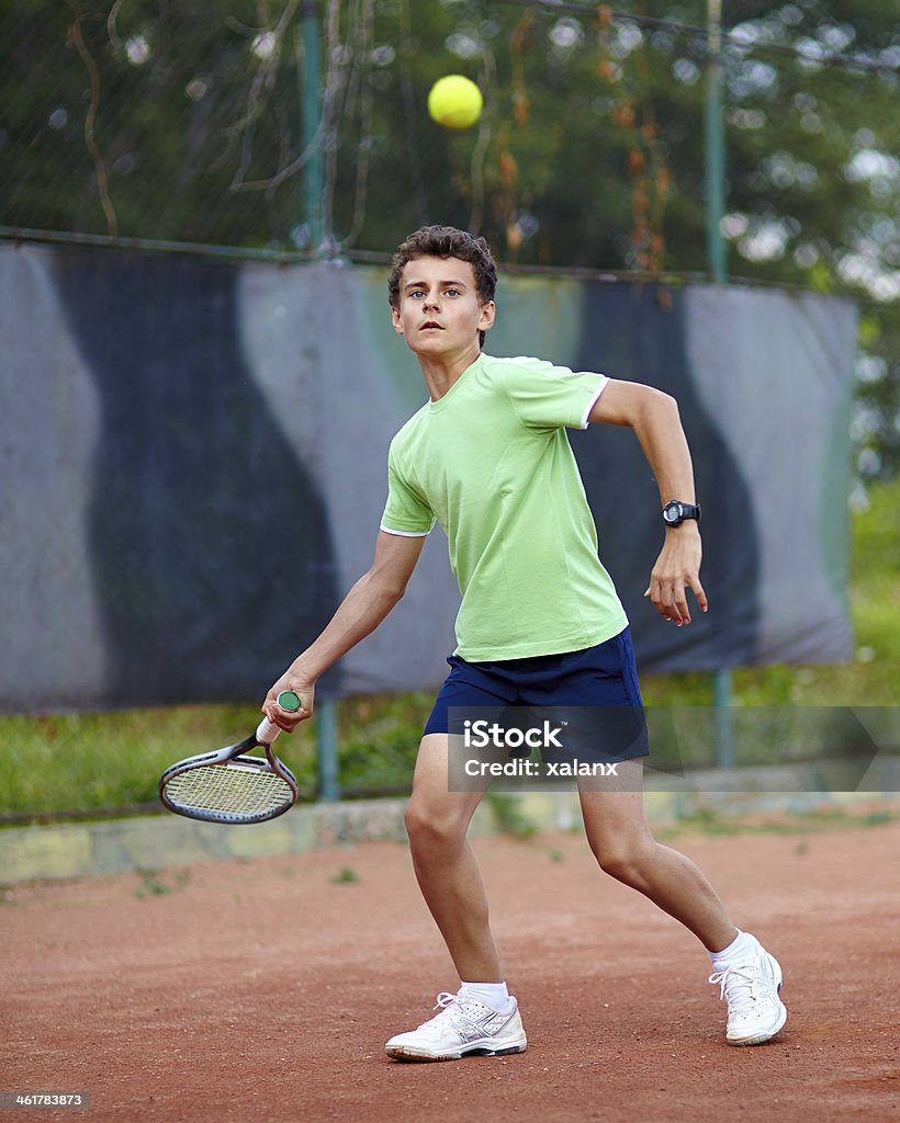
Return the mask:
<svg viewBox="0 0 900 1123">
<path fill-rule="evenodd" d="M 230 761 L 173 776 L 165 793 L 179 807 L 238 816 L 262 814 L 293 802 L 291 785 L 281 776 Z"/>
</svg>

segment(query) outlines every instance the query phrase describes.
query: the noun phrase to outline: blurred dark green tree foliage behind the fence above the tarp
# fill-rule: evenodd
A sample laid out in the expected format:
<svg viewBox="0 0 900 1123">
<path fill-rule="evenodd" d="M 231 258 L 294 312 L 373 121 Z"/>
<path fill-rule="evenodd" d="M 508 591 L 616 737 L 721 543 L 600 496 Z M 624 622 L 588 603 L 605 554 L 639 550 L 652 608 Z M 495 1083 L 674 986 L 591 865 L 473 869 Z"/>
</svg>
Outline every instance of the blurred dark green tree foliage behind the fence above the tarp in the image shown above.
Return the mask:
<svg viewBox="0 0 900 1123">
<path fill-rule="evenodd" d="M 703 0 L 2 0 L 0 223 L 242 248 L 385 254 L 426 221 L 508 264 L 704 273 Z M 733 276 L 862 308 L 863 478 L 900 467 L 900 20 L 884 0 L 725 0 Z M 676 25 L 683 25 L 680 28 Z M 427 117 L 436 77 L 482 121 Z M 302 136 L 304 97 L 321 128 Z M 312 140 L 307 145 L 307 140 Z M 324 163 L 310 245 L 304 158 Z"/>
</svg>

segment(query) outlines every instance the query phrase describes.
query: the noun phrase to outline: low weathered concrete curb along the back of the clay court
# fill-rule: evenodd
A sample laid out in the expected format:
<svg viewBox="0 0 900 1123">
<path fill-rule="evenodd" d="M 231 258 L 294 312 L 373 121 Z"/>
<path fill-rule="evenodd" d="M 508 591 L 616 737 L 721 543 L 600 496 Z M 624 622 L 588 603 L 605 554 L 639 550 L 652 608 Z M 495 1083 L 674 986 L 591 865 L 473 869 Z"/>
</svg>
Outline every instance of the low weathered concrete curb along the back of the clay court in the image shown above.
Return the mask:
<svg viewBox="0 0 900 1123">
<path fill-rule="evenodd" d="M 896 801 L 900 809 L 900 758 L 878 764 L 878 783 L 867 783 L 864 792 L 816 791 L 822 779 L 820 769 L 799 767 L 710 772 L 692 774 L 690 780 L 649 775 L 645 792 L 647 818 L 664 825 L 704 812 L 725 816 L 803 813 L 885 800 Z M 222 827 L 161 813 L 12 828 L 0 831 L 0 884 L 158 870 L 193 861 L 303 853 L 370 841 L 406 843 L 404 807 L 406 800 L 306 805 L 254 827 Z M 515 829 L 504 809 L 529 829 L 565 831 L 579 829 L 581 823 L 574 792 L 528 792 L 510 795 L 507 801 L 482 802 L 472 833 Z"/>
</svg>

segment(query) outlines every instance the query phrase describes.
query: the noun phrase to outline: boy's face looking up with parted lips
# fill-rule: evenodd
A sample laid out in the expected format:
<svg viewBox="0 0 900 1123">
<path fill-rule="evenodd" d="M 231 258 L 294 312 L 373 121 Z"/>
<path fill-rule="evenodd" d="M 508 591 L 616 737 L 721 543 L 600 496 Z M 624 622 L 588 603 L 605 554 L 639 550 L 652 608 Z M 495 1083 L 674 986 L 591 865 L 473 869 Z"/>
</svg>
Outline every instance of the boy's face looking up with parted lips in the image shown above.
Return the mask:
<svg viewBox="0 0 900 1123">
<path fill-rule="evenodd" d="M 493 317 L 493 301 L 480 303 L 470 262 L 417 257 L 403 266 L 393 326 L 417 355 L 449 358 L 478 347 Z"/>
</svg>

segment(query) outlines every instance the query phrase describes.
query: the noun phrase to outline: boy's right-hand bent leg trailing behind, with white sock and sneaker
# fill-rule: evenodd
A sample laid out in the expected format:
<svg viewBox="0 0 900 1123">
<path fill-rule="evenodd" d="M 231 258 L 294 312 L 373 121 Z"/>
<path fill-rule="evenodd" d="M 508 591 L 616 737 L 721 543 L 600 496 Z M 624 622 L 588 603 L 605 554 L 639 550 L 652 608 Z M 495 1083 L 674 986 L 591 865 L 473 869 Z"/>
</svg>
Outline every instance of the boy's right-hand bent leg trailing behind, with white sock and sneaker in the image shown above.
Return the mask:
<svg viewBox="0 0 900 1123">
<path fill-rule="evenodd" d="M 728 1043 L 769 1041 L 788 1017 L 779 997 L 781 965 L 755 937 L 735 928 L 690 858 L 653 838 L 644 814 L 642 763 L 626 761 L 618 772 L 616 789 L 593 786 L 579 792 L 584 830 L 597 860 L 606 873 L 638 889 L 704 944 L 715 968 L 709 980 L 720 984 L 728 1003 Z"/>
</svg>

